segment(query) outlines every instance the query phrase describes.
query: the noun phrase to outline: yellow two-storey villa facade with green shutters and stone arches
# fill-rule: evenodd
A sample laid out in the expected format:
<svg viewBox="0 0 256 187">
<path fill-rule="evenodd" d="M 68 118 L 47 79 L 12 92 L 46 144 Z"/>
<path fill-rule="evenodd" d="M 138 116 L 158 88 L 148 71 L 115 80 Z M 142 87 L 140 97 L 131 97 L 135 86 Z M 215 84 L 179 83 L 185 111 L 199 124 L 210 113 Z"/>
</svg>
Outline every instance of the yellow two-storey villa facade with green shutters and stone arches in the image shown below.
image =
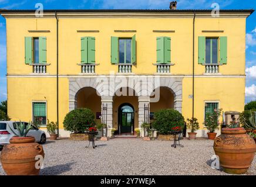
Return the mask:
<svg viewBox="0 0 256 187">
<path fill-rule="evenodd" d="M 251 10 L 0 12 L 12 120 L 40 120 L 42 129 L 47 119 L 58 121 L 64 137 L 65 115 L 89 108 L 110 136 L 113 128 L 133 133 L 157 110 L 174 108 L 185 119 L 194 114 L 197 136 L 207 136 L 206 111 L 244 110 Z"/>
</svg>

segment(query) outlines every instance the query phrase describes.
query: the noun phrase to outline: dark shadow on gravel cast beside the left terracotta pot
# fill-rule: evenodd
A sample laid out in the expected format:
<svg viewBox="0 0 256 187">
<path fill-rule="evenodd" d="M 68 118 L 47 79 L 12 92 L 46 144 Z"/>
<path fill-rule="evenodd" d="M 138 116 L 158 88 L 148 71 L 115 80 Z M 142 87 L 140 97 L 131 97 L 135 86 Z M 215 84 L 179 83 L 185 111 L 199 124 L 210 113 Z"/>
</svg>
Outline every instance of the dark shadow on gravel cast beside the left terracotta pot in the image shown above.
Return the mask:
<svg viewBox="0 0 256 187">
<path fill-rule="evenodd" d="M 70 171 L 71 165 L 75 162 L 69 162 L 66 164 L 55 165 L 51 167 L 42 168 L 40 171 L 40 175 L 60 175 L 63 172 Z"/>
</svg>

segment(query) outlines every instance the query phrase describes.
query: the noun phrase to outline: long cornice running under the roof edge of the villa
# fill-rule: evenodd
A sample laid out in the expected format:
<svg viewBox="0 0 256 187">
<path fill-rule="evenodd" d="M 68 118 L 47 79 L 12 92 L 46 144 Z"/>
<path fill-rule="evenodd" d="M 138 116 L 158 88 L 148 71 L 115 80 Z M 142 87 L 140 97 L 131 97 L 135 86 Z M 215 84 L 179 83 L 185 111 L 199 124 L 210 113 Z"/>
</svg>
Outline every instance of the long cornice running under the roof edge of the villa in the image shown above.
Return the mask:
<svg viewBox="0 0 256 187">
<path fill-rule="evenodd" d="M 212 10 L 44 10 L 43 17 L 36 17 L 35 10 L 0 10 L 5 18 L 247 18 L 254 10 L 220 10 L 220 17 Z"/>
</svg>

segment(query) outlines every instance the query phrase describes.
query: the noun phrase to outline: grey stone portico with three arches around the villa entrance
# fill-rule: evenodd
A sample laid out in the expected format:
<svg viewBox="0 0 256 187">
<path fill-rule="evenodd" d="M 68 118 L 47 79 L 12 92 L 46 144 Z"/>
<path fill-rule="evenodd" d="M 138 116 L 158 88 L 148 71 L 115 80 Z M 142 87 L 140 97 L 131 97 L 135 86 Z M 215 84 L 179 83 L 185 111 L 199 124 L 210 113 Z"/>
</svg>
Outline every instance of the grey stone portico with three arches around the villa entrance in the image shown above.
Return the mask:
<svg viewBox="0 0 256 187">
<path fill-rule="evenodd" d="M 151 76 L 150 78 L 152 78 Z M 138 127 L 140 129 L 141 124 L 145 120 L 145 106 L 150 110 L 150 103 L 157 102 L 157 97 L 160 96 L 161 88 L 167 88 L 171 93 L 173 93 L 173 103 L 174 109 L 182 112 L 182 79 L 181 77 L 163 77 L 156 76 L 153 77 L 152 82 L 146 82 L 146 76 L 132 77 L 132 81 L 126 76 L 116 76 L 114 79 L 110 76 L 106 77 L 79 77 L 79 78 L 69 78 L 69 110 L 78 108 L 78 97 L 77 93 L 82 88 L 93 88 L 96 90 L 97 95 L 100 97 L 101 101 L 101 112 L 106 115 L 106 122 L 108 128 L 108 136 L 111 135 L 111 130 L 113 129 L 113 97 L 116 92 L 122 88 L 122 84 L 118 84 L 120 79 L 123 79 L 124 85 L 127 88 L 132 89 L 137 96 L 137 115 L 138 115 Z M 116 81 L 117 80 L 117 84 Z M 125 81 L 127 81 L 125 83 Z M 132 84 L 133 83 L 133 84 Z M 128 89 L 129 90 L 129 89 Z M 129 92 L 128 92 L 129 94 Z M 103 108 L 106 110 L 103 112 Z"/>
</svg>

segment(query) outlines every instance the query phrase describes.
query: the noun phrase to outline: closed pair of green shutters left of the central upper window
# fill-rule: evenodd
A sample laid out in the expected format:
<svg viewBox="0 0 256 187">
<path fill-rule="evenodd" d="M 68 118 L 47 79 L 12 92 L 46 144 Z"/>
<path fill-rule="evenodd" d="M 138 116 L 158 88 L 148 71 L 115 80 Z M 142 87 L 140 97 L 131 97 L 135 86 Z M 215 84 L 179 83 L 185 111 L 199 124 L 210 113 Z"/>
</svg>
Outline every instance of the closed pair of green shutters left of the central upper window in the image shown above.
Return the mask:
<svg viewBox="0 0 256 187">
<path fill-rule="evenodd" d="M 81 38 L 81 64 L 95 64 L 95 37 Z"/>
</svg>

